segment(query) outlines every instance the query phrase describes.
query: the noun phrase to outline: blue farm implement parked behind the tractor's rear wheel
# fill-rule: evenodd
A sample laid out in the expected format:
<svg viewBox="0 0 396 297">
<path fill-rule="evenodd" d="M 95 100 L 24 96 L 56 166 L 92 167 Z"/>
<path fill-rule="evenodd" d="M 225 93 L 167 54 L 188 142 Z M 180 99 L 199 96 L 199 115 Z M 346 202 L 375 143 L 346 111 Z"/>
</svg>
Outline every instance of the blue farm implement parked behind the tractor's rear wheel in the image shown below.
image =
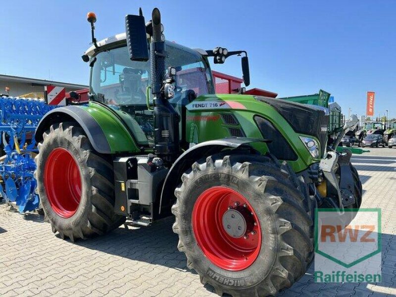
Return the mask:
<svg viewBox="0 0 396 297">
<path fill-rule="evenodd" d="M 34 133 L 41 118 L 55 107 L 39 99 L 0 98 L 1 148 L 4 151 L 0 158 L 0 195 L 8 204 L 14 202 L 21 213 L 39 206 L 35 193 L 37 147 Z"/>
</svg>

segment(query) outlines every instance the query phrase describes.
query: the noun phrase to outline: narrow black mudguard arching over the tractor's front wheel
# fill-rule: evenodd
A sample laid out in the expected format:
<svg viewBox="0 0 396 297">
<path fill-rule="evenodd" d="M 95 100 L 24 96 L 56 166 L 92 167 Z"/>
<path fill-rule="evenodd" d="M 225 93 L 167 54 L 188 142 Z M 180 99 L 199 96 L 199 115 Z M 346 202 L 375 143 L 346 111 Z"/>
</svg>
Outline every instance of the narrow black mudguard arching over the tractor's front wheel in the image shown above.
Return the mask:
<svg viewBox="0 0 396 297">
<path fill-rule="evenodd" d="M 223 138 L 202 142 L 186 150 L 177 158 L 166 175 L 161 192 L 159 212 L 161 213 L 162 209 L 168 209 L 170 211 L 170 203 L 174 199 L 173 192 L 180 183 L 183 173 L 187 171 L 188 168 L 191 168 L 194 162 L 202 157 L 210 156 L 214 153 L 220 152 L 223 148 L 250 147 L 250 144 L 258 142 L 266 143 L 270 142 L 270 140 L 246 137 Z"/>
</svg>

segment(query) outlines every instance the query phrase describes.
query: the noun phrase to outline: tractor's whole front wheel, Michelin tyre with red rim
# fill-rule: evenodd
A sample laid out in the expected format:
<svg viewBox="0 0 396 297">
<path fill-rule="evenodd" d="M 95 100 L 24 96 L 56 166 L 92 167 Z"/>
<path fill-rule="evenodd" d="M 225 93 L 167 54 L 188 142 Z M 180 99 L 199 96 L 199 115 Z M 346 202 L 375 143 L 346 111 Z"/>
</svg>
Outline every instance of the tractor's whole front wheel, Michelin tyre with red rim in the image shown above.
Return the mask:
<svg viewBox="0 0 396 297">
<path fill-rule="evenodd" d="M 268 156 L 210 156 L 182 181 L 173 231 L 202 284 L 220 296 L 269 296 L 304 275 L 314 206 L 290 167 Z"/>
</svg>

